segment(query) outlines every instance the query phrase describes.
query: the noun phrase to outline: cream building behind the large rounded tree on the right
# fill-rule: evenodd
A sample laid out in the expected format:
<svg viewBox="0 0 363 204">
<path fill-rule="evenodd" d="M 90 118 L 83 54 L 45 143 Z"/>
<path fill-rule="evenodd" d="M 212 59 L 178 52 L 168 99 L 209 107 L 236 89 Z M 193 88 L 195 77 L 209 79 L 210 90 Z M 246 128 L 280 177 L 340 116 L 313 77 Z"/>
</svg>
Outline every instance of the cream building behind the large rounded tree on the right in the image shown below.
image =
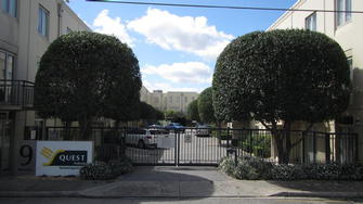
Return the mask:
<svg viewBox="0 0 363 204">
<path fill-rule="evenodd" d="M 345 123 L 336 123 L 336 131 L 359 133 L 359 160 L 363 161 L 363 14 L 349 12 L 363 11 L 363 1 L 298 0 L 291 9 L 312 11 L 287 11 L 268 30 L 310 29 L 326 34 L 341 46 L 351 66 L 353 92 L 342 116 Z M 320 12 L 322 10 L 335 12 Z"/>
</svg>

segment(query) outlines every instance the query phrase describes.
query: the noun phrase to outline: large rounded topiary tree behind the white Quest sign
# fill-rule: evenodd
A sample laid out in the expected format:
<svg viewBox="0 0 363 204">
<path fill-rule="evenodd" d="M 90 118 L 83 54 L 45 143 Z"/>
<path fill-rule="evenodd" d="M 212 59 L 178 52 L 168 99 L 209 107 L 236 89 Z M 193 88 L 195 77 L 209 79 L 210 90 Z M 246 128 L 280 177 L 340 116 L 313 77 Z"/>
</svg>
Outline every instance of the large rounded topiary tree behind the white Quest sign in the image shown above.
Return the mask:
<svg viewBox="0 0 363 204">
<path fill-rule="evenodd" d="M 126 120 L 139 103 L 141 75 L 132 50 L 117 38 L 74 31 L 54 40 L 42 55 L 35 107 L 42 117 L 77 120 L 88 139 L 94 117 Z"/>
</svg>

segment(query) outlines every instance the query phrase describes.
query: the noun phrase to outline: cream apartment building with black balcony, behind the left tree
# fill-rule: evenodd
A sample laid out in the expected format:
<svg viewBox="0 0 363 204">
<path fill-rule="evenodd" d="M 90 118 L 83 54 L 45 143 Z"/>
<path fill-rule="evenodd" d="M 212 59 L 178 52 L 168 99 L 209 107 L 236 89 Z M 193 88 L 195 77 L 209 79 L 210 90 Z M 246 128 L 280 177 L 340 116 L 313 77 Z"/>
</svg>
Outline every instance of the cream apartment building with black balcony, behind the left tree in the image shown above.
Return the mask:
<svg viewBox="0 0 363 204">
<path fill-rule="evenodd" d="M 29 110 L 39 61 L 54 39 L 72 30 L 90 28 L 63 0 L 1 0 L 0 175 L 16 173 L 24 127 L 37 123 Z"/>
</svg>

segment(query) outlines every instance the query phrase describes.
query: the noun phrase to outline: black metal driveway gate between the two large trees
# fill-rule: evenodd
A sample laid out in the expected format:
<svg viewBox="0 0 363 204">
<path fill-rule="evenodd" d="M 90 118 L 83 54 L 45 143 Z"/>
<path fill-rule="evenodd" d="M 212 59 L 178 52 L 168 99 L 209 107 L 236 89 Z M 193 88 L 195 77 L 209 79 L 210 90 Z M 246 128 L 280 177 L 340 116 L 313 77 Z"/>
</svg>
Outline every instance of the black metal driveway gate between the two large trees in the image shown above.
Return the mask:
<svg viewBox="0 0 363 204">
<path fill-rule="evenodd" d="M 231 140 L 221 140 L 212 133 L 210 129 L 194 128 L 169 130 L 156 136 L 129 131 L 126 135 L 126 155 L 137 165 L 216 166 L 226 156 Z"/>
</svg>

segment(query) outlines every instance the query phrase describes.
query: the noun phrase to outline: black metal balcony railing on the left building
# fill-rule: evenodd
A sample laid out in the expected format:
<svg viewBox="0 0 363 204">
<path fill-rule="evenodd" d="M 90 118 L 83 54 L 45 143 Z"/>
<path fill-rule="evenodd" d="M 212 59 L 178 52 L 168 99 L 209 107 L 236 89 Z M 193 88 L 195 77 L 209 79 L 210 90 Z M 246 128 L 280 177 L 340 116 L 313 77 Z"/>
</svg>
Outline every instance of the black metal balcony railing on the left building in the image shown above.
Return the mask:
<svg viewBox="0 0 363 204">
<path fill-rule="evenodd" d="M 0 109 L 31 109 L 34 82 L 0 79 Z"/>
</svg>

